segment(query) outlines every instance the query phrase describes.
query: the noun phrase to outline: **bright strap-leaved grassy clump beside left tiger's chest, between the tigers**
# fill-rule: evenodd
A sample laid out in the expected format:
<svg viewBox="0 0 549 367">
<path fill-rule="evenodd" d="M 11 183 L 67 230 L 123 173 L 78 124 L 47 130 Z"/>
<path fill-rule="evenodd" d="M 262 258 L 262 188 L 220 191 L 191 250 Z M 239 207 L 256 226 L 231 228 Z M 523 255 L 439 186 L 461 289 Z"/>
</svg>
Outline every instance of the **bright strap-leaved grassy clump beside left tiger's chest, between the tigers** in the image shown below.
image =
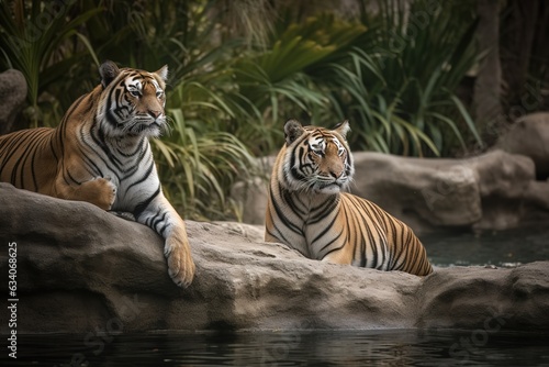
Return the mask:
<svg viewBox="0 0 549 367">
<path fill-rule="evenodd" d="M 187 218 L 222 220 L 239 208 L 227 199 L 236 177 L 248 176 L 254 157 L 234 135 L 208 131 L 203 122 L 186 120 L 181 109 L 168 111 L 170 136 L 153 141 L 160 179 L 168 199 Z"/>
</svg>

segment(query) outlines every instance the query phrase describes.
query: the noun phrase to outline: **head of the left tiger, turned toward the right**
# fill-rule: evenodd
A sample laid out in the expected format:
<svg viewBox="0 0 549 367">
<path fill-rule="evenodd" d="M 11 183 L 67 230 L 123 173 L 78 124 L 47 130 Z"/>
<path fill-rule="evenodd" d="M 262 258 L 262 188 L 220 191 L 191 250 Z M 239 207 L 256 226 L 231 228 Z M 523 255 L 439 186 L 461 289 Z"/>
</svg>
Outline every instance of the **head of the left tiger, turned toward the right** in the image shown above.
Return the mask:
<svg viewBox="0 0 549 367">
<path fill-rule="evenodd" d="M 155 73 L 119 68 L 112 62 L 99 68 L 101 101 L 98 120 L 105 136 L 158 136 L 166 129 L 166 80 L 168 67 Z"/>
</svg>

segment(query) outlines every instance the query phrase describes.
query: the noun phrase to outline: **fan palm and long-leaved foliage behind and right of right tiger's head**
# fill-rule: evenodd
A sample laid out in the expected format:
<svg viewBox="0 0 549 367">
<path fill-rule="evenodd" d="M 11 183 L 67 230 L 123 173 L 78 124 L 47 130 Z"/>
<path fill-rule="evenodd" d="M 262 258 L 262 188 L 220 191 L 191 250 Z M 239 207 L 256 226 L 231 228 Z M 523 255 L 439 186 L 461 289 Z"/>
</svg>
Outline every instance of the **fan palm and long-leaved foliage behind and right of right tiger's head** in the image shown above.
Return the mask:
<svg viewBox="0 0 549 367">
<path fill-rule="evenodd" d="M 423 0 L 408 10 L 397 0 L 379 4 L 362 23 L 318 14 L 279 25 L 270 47 L 235 63 L 242 93 L 270 112 L 254 123 L 272 131 L 264 152 L 278 147 L 289 116 L 327 126 L 349 119 L 355 149 L 438 156 L 464 148 L 464 136 L 480 140 L 456 96 L 478 60 L 474 14 Z"/>
</svg>

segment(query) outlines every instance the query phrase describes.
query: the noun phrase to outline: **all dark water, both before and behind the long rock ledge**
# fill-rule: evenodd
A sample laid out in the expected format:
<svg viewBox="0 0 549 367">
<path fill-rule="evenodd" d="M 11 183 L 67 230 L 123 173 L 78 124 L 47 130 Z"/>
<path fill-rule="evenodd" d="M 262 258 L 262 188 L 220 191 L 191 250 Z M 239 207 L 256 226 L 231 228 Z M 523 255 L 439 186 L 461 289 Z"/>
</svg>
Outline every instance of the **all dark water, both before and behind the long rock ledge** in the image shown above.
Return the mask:
<svg viewBox="0 0 549 367">
<path fill-rule="evenodd" d="M 549 259 L 549 229 L 421 236 L 437 266 Z M 334 315 L 337 316 L 337 315 Z M 90 331 L 92 332 L 92 331 Z M 19 335 L 1 366 L 548 366 L 546 333 L 484 330 Z"/>
</svg>

